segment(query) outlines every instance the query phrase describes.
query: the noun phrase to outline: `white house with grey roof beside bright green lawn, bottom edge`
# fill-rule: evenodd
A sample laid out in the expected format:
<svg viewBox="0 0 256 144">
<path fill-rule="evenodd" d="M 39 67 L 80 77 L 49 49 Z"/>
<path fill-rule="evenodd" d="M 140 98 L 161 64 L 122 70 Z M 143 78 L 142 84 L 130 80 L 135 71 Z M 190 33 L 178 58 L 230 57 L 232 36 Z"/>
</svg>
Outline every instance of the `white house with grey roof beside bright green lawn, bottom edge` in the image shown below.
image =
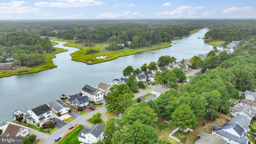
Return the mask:
<svg viewBox="0 0 256 144">
<path fill-rule="evenodd" d="M 102 141 L 104 139 L 105 126 L 105 124 L 97 124 L 92 129 L 83 128 L 78 135 L 78 141 L 86 144 Z"/>
</svg>

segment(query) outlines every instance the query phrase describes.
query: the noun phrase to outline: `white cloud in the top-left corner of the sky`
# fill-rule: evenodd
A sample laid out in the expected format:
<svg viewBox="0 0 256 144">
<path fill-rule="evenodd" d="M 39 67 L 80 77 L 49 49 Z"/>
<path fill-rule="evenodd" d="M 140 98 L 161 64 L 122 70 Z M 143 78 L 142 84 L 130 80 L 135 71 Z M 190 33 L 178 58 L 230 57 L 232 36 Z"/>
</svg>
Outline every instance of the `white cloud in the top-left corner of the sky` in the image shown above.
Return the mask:
<svg viewBox="0 0 256 144">
<path fill-rule="evenodd" d="M 23 4 L 28 4 L 24 1 L 12 1 L 10 3 L 0 3 L 0 14 L 3 13 L 35 13 L 39 8 L 34 8 L 30 6 L 23 6 Z"/>
</svg>

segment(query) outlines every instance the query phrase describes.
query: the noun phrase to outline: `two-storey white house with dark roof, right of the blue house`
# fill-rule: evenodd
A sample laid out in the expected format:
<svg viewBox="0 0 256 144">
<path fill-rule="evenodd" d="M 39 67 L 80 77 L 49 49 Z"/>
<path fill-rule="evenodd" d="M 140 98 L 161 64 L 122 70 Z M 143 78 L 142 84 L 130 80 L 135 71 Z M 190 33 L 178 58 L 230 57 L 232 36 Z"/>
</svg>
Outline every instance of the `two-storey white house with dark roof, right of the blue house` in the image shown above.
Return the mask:
<svg viewBox="0 0 256 144">
<path fill-rule="evenodd" d="M 86 84 L 82 88 L 82 96 L 88 96 L 90 101 L 98 102 L 104 99 L 104 92 Z"/>
</svg>

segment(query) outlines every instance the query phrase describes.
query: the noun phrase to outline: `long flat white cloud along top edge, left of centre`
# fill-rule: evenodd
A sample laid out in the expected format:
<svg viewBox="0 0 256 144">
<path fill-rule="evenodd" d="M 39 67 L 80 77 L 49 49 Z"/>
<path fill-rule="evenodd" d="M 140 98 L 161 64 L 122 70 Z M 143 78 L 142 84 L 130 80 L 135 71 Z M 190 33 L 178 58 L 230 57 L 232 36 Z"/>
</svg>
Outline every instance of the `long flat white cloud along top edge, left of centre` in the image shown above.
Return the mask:
<svg viewBox="0 0 256 144">
<path fill-rule="evenodd" d="M 63 2 L 37 2 L 36 6 L 46 7 L 83 7 L 83 6 L 97 6 L 105 4 L 104 2 L 95 0 L 58 0 Z"/>
</svg>

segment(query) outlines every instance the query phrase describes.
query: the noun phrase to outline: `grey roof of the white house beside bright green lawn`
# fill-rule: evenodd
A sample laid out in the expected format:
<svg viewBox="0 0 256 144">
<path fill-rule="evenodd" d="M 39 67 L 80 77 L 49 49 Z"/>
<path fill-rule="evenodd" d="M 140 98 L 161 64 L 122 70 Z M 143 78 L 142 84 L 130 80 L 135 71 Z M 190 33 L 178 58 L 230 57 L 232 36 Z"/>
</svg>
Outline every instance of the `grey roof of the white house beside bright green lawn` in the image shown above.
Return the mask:
<svg viewBox="0 0 256 144">
<path fill-rule="evenodd" d="M 100 136 L 100 134 L 102 134 L 102 132 L 104 132 L 104 128 L 105 128 L 105 124 L 97 124 L 95 125 L 92 129 L 88 129 L 88 128 L 83 128 L 78 137 L 84 138 L 84 136 L 82 136 L 83 134 L 89 134 L 91 133 L 93 136 L 95 136 L 96 138 L 98 138 L 98 136 Z"/>
</svg>

